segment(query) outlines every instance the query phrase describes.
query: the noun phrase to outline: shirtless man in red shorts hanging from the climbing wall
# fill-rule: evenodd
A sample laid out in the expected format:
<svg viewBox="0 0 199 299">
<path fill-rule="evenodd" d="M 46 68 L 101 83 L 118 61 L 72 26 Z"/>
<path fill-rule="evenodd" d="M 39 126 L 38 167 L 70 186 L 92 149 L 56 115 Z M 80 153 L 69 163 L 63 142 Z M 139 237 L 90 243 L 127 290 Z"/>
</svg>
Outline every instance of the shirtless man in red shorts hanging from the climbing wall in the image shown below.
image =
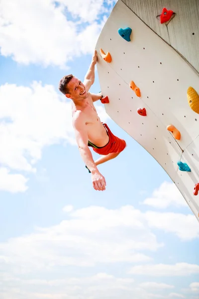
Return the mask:
<svg viewBox="0 0 199 299">
<path fill-rule="evenodd" d="M 89 89 L 95 81 L 97 51 L 85 76 L 84 83 L 73 75 L 64 76 L 59 82 L 59 90 L 72 100 L 73 128 L 83 161 L 92 175 L 95 190 L 105 190 L 106 181 L 97 165 L 115 158 L 126 147 L 124 140 L 114 136 L 106 124 L 100 122 L 94 102 L 102 98 L 101 93 L 92 94 Z M 102 156 L 94 161 L 91 150 Z"/>
</svg>

